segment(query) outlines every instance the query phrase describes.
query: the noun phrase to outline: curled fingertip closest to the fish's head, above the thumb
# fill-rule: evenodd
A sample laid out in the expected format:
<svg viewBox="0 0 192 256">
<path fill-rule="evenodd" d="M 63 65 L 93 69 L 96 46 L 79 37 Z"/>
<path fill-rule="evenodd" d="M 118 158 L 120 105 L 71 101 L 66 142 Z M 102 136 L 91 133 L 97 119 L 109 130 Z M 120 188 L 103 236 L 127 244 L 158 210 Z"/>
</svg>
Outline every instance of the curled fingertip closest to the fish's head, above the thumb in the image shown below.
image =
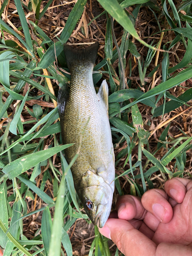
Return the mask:
<svg viewBox="0 0 192 256">
<path fill-rule="evenodd" d="M 116 205 L 118 218 L 122 220 L 143 219 L 145 209 L 139 197 L 125 195 L 119 197 Z"/>
</svg>

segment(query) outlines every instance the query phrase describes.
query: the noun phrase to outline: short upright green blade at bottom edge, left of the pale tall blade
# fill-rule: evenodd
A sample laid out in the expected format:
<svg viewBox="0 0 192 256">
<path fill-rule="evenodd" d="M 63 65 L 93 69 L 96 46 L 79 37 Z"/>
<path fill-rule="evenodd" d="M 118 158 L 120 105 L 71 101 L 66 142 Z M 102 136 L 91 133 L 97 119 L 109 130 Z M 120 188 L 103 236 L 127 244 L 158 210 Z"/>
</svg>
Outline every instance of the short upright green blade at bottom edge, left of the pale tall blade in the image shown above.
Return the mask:
<svg viewBox="0 0 192 256">
<path fill-rule="evenodd" d="M 51 220 L 51 213 L 50 213 L 49 207 L 46 207 L 46 209 L 42 213 L 42 221 L 41 221 L 41 234 L 42 234 L 42 241 L 44 242 L 46 256 L 49 256 L 49 244 L 51 241 L 52 225 L 53 224 Z"/>
</svg>

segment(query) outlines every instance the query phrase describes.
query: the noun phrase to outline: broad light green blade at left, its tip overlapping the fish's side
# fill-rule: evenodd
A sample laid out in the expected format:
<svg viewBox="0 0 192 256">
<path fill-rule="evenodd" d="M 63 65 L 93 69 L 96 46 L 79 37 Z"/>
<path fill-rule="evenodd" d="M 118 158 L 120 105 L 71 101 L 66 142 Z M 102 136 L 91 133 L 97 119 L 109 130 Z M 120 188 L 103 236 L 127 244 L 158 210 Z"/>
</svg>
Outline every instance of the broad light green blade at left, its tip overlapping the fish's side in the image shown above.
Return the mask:
<svg viewBox="0 0 192 256">
<path fill-rule="evenodd" d="M 33 154 L 29 154 L 23 156 L 21 158 L 16 159 L 15 161 L 7 164 L 2 172 L 7 174 L 9 179 L 13 179 L 18 175 L 26 172 L 28 169 L 34 167 L 38 163 L 47 160 L 53 155 L 57 154 L 59 151 L 64 150 L 65 148 L 71 146 L 72 144 L 55 146 L 52 148 L 48 148 L 47 150 L 38 151 Z"/>
</svg>

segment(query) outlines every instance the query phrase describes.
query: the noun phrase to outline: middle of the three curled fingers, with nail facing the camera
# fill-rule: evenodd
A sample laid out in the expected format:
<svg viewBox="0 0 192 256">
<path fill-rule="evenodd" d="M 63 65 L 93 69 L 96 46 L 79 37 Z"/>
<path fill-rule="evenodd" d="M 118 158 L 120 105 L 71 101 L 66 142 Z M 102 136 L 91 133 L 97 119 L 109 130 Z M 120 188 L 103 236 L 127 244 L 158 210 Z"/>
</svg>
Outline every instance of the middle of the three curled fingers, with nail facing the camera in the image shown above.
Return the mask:
<svg viewBox="0 0 192 256">
<path fill-rule="evenodd" d="M 160 222 L 168 223 L 173 217 L 173 208 L 166 198 L 164 190 L 150 189 L 143 194 L 141 202 Z"/>
</svg>

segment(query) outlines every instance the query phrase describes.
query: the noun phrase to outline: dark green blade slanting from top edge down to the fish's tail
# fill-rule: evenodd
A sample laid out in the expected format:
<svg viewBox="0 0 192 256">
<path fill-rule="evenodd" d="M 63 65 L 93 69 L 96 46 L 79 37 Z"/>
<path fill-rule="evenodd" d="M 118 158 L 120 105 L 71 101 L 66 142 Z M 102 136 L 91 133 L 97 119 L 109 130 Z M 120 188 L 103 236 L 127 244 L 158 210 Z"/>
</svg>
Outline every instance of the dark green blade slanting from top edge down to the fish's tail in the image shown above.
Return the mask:
<svg viewBox="0 0 192 256">
<path fill-rule="evenodd" d="M 80 16 L 84 11 L 84 6 L 86 5 L 86 3 L 87 0 L 78 0 L 72 11 L 70 12 L 68 20 L 66 22 L 66 26 L 64 27 L 60 35 L 60 40 L 63 41 L 64 44 L 67 42 L 70 35 L 72 34 Z"/>
</svg>

